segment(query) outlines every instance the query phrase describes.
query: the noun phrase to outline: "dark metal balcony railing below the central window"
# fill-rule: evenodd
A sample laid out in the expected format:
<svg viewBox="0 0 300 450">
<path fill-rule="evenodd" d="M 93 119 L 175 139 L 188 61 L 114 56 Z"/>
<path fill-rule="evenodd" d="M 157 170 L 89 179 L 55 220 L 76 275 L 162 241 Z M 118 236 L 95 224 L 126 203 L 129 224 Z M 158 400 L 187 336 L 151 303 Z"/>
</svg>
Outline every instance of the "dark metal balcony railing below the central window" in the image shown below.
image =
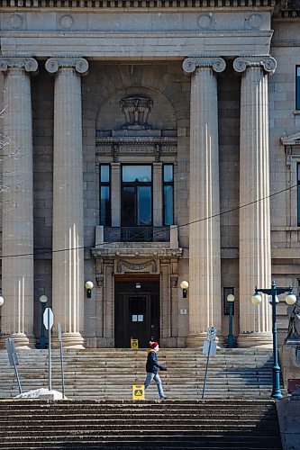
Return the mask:
<svg viewBox="0 0 300 450">
<path fill-rule="evenodd" d="M 169 242 L 169 227 L 105 227 L 105 242 Z"/>
</svg>

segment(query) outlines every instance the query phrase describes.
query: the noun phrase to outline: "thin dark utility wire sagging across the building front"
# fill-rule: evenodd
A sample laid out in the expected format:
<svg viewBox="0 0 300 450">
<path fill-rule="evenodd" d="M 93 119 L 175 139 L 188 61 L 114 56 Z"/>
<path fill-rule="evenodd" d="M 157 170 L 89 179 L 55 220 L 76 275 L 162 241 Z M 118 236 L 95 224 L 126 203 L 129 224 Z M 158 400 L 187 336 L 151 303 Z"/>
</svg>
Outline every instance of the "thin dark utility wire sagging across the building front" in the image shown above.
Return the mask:
<svg viewBox="0 0 300 450">
<path fill-rule="evenodd" d="M 286 187 L 285 189 L 281 189 L 280 191 L 277 191 L 276 193 L 270 193 L 269 195 L 266 195 L 265 197 L 262 197 L 258 200 L 253 200 L 252 202 L 249 203 L 245 203 L 242 204 L 240 206 L 237 206 L 236 208 L 232 208 L 231 210 L 228 211 L 223 211 L 223 212 L 218 212 L 216 214 L 213 214 L 209 217 L 205 217 L 203 219 L 197 219 L 197 220 L 192 220 L 186 223 L 182 223 L 181 225 L 174 225 L 174 227 L 176 227 L 177 229 L 179 228 L 183 228 L 183 227 L 187 227 L 189 225 L 193 225 L 194 223 L 199 223 L 205 220 L 210 220 L 210 219 L 214 219 L 215 217 L 221 217 L 224 214 L 229 214 L 233 211 L 238 211 L 241 210 L 242 208 L 246 208 L 247 206 L 250 206 L 252 204 L 258 203 L 258 202 L 262 202 L 263 200 L 266 200 L 268 198 L 272 198 L 275 197 L 276 195 L 278 195 L 279 193 L 285 193 L 286 191 L 291 191 L 292 189 L 294 189 L 295 187 L 297 187 L 298 184 L 294 184 L 293 186 L 290 187 Z M 160 231 L 157 231 L 158 233 L 160 233 Z M 155 233 L 155 231 L 154 231 Z M 107 244 L 117 244 L 119 241 L 109 241 L 109 242 L 102 242 L 101 244 L 96 245 L 95 247 L 91 247 L 91 246 L 81 246 L 81 247 L 70 247 L 70 248 L 59 248 L 58 250 L 52 250 L 52 249 L 46 249 L 46 248 L 41 248 L 41 250 L 39 250 L 39 248 L 37 248 L 33 253 L 23 253 L 23 254 L 19 254 L 19 255 L 5 255 L 3 257 L 1 257 L 1 259 L 5 259 L 6 257 L 32 257 L 33 255 L 48 255 L 48 254 L 53 254 L 53 253 L 59 253 L 59 252 L 65 252 L 65 251 L 70 251 L 70 250 L 81 250 L 81 249 L 91 249 L 91 248 L 99 248 L 99 247 L 103 247 Z"/>
</svg>

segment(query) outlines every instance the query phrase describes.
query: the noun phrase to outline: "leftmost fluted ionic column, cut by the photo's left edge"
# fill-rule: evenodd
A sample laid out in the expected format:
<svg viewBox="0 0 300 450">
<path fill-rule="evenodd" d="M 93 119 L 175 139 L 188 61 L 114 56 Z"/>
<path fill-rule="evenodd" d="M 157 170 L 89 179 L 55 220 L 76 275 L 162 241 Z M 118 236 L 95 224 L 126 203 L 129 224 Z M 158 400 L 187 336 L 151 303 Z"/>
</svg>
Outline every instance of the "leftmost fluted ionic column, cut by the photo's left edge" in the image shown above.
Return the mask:
<svg viewBox="0 0 300 450">
<path fill-rule="evenodd" d="M 33 58 L 0 58 L 4 72 L 2 307 L 3 338 L 15 347 L 33 340 L 33 188 L 32 94 Z"/>
</svg>

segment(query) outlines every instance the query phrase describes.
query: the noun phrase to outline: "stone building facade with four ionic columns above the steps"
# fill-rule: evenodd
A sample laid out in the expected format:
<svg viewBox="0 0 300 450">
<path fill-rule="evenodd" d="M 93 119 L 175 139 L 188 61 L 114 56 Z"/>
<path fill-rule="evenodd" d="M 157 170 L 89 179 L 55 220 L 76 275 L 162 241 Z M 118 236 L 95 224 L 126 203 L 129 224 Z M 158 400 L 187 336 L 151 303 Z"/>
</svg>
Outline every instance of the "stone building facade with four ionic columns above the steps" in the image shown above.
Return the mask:
<svg viewBox="0 0 300 450">
<path fill-rule="evenodd" d="M 39 342 L 46 294 L 54 344 L 226 345 L 233 293 L 237 345 L 271 344 L 250 298 L 300 278 L 298 6 L 1 0 L 2 343 Z"/>
</svg>

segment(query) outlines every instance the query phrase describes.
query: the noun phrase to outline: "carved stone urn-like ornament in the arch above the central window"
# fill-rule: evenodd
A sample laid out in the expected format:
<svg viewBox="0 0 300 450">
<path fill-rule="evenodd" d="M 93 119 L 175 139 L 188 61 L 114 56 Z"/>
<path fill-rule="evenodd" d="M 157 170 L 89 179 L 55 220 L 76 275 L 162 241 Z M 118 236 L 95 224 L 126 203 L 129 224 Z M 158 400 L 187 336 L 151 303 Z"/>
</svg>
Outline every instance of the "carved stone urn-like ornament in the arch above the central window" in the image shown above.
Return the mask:
<svg viewBox="0 0 300 450">
<path fill-rule="evenodd" d="M 123 97 L 120 102 L 122 111 L 125 114 L 126 123 L 123 130 L 150 130 L 147 117 L 153 105 L 150 97 L 143 95 L 130 95 Z"/>
</svg>

